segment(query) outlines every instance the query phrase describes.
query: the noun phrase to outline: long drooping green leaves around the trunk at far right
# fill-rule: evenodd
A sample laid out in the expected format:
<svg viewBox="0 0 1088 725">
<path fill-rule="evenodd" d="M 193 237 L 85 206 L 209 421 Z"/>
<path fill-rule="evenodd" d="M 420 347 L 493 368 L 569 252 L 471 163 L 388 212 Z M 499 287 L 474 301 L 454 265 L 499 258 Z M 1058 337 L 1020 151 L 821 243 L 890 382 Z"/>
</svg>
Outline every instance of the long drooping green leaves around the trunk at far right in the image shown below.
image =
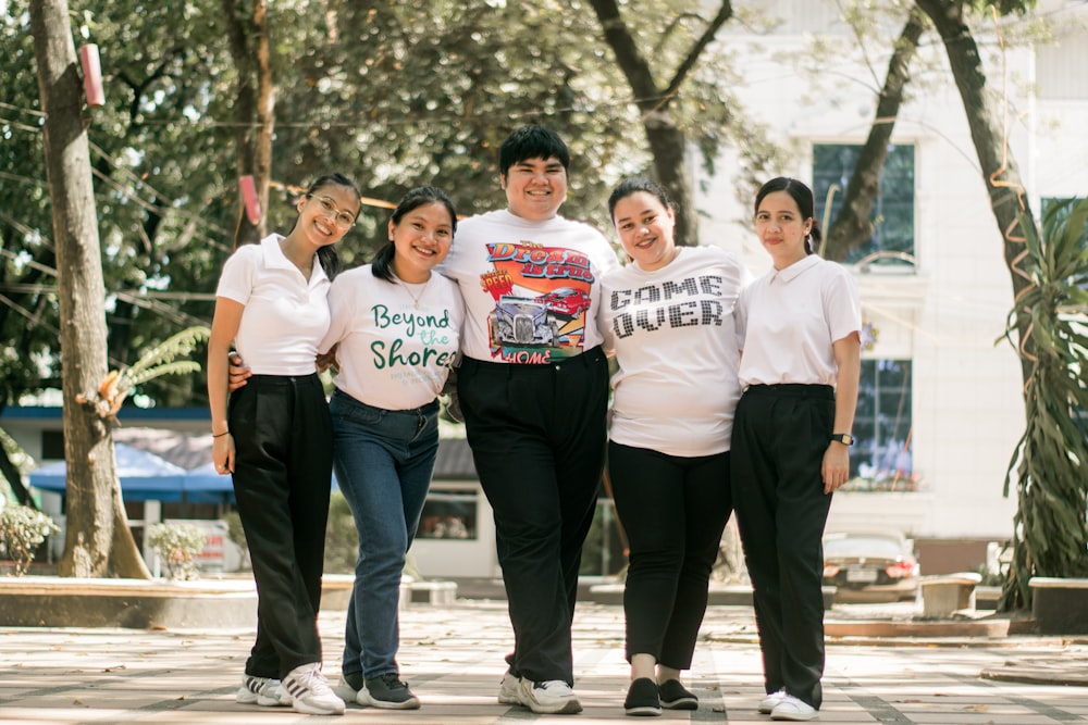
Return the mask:
<svg viewBox="0 0 1088 725">
<path fill-rule="evenodd" d="M 1015 485 L 1013 561 L 1002 609 L 1030 604 L 1033 576 L 1088 576 L 1088 199 L 1053 204 L 1026 233 L 1021 271 L 1031 286 L 1006 323 L 1030 330 L 1027 425 L 1009 465 Z"/>
</svg>

